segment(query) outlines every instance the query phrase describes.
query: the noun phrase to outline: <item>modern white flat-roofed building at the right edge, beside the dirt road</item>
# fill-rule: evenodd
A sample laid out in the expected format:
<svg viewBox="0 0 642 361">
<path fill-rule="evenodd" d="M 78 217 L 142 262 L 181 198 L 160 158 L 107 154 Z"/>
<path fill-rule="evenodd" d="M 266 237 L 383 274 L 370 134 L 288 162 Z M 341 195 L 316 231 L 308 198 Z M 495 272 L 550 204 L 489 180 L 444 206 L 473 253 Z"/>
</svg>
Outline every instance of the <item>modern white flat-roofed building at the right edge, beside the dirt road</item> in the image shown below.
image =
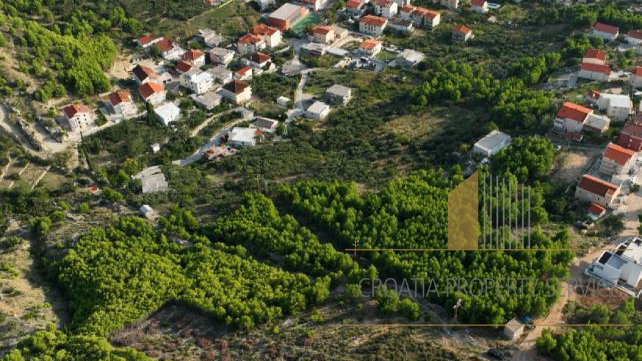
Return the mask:
<svg viewBox="0 0 642 361">
<path fill-rule="evenodd" d="M 616 251 L 602 253 L 600 258 L 593 261 L 588 272 L 615 285 L 624 285 L 639 297 L 642 281 L 642 239 L 629 238 L 618 245 Z"/>
</svg>

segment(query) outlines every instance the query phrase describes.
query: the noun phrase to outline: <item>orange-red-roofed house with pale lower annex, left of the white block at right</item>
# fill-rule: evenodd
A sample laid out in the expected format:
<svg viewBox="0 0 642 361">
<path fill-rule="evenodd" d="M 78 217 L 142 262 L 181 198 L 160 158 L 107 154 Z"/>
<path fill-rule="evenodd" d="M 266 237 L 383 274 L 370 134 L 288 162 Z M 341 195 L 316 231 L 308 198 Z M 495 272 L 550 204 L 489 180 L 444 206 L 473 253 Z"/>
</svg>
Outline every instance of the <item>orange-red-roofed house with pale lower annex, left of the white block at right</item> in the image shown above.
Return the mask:
<svg viewBox="0 0 642 361">
<path fill-rule="evenodd" d="M 583 131 L 603 133 L 609 128 L 610 123 L 609 118 L 595 114 L 593 109 L 566 102 L 557 111 L 553 127 L 567 133 Z"/>
</svg>

